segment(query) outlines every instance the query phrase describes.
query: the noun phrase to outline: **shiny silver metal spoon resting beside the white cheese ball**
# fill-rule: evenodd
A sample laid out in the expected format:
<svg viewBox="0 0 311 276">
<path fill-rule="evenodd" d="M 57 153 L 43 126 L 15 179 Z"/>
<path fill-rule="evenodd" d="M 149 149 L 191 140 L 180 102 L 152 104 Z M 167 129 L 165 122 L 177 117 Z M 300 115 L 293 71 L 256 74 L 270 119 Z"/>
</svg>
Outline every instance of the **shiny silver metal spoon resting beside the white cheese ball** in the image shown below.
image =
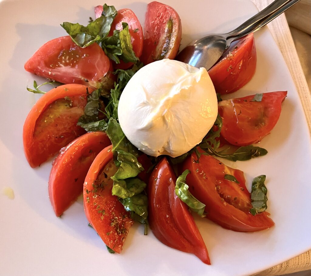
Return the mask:
<svg viewBox="0 0 311 276">
<path fill-rule="evenodd" d="M 210 34 L 188 44 L 176 57 L 197 68 L 210 69 L 226 51 L 231 42 L 257 31 L 300 0 L 275 0 L 268 7 L 245 21 L 230 33 Z"/>
</svg>

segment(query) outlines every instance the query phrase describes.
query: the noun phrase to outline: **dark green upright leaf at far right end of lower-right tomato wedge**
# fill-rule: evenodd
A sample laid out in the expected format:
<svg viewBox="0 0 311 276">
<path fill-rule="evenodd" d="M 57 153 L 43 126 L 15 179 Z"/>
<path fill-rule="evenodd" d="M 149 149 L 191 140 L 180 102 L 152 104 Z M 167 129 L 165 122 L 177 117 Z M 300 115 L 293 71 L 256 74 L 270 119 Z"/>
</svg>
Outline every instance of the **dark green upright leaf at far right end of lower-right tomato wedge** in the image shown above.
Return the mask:
<svg viewBox="0 0 311 276">
<path fill-rule="evenodd" d="M 267 187 L 265 186 L 265 175 L 257 176 L 252 182 L 251 203 L 253 208 L 249 212 L 255 216 L 267 209 Z"/>
</svg>

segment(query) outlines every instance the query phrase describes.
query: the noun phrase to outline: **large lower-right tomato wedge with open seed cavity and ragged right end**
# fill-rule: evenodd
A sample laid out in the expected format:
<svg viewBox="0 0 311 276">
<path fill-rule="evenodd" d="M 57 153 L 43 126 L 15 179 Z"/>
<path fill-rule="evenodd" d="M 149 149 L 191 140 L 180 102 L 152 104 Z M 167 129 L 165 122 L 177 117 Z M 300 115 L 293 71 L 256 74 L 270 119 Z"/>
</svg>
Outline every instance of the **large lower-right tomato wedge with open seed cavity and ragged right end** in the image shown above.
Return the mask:
<svg viewBox="0 0 311 276">
<path fill-rule="evenodd" d="M 199 162 L 195 161 L 197 156 L 193 153 L 183 163 L 183 170 L 190 170 L 186 178 L 189 191 L 206 205 L 208 219 L 239 232 L 259 231 L 274 225 L 267 212 L 256 216 L 249 213 L 252 205 L 243 171 L 230 168 L 210 155 L 202 154 Z M 226 174 L 240 183 L 226 180 Z"/>
</svg>

